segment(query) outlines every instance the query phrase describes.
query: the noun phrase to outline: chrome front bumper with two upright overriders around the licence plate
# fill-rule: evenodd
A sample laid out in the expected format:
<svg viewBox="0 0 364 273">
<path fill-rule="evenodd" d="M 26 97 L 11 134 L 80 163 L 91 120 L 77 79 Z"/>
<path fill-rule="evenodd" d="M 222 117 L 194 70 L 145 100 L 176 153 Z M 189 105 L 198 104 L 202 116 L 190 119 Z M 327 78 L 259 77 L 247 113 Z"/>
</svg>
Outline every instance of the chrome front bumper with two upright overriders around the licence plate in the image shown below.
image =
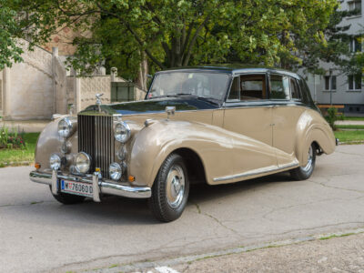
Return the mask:
<svg viewBox="0 0 364 273">
<path fill-rule="evenodd" d="M 100 194 L 131 198 L 148 198 L 151 196 L 150 187 L 131 187 L 117 184 L 112 180 L 102 180 L 98 178 L 98 173 L 94 173 L 92 177 L 71 177 L 63 176 L 56 171 L 53 171 L 52 174 L 32 171 L 29 177 L 33 182 L 50 185 L 52 193 L 55 195 L 58 194 L 59 187 L 57 184 L 59 184 L 60 179 L 91 184 L 94 189 L 93 199 L 95 202 L 100 202 Z"/>
</svg>

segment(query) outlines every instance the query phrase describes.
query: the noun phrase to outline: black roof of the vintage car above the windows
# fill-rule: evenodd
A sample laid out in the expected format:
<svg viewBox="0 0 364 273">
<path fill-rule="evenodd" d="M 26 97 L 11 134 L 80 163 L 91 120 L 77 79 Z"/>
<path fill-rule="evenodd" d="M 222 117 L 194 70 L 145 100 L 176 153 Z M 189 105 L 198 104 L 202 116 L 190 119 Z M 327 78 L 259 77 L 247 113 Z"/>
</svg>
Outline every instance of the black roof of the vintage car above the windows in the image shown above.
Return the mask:
<svg viewBox="0 0 364 273">
<path fill-rule="evenodd" d="M 182 67 L 174 67 L 168 68 L 166 70 L 157 72 L 158 73 L 166 73 L 177 70 L 208 70 L 208 71 L 219 71 L 223 73 L 229 74 L 240 74 L 240 73 L 278 73 L 284 74 L 288 76 L 293 76 L 296 78 L 300 78 L 296 73 L 290 72 L 288 70 L 276 67 L 268 67 L 268 66 L 252 66 L 252 65 L 241 65 L 241 64 L 220 64 L 220 65 L 206 65 L 206 66 L 182 66 Z"/>
</svg>

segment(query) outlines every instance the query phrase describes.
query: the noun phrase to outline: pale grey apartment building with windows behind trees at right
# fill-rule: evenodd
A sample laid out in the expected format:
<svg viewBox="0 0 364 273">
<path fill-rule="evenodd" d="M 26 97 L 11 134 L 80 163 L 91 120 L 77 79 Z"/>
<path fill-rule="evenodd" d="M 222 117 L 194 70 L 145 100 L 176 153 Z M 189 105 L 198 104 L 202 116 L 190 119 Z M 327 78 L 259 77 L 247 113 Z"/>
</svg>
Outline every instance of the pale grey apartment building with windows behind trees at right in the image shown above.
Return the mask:
<svg viewBox="0 0 364 273">
<path fill-rule="evenodd" d="M 359 37 L 364 33 L 364 1 L 340 1 L 344 10 L 358 10 L 359 14 L 344 18 L 340 25 L 350 25 L 347 33 Z M 363 50 L 362 43 L 356 37 L 350 40 L 350 51 L 357 54 Z M 313 99 L 320 105 L 343 105 L 345 114 L 364 114 L 364 82 L 361 75 L 346 75 L 340 67 L 321 63 L 324 76 L 308 75 L 308 86 Z"/>
</svg>

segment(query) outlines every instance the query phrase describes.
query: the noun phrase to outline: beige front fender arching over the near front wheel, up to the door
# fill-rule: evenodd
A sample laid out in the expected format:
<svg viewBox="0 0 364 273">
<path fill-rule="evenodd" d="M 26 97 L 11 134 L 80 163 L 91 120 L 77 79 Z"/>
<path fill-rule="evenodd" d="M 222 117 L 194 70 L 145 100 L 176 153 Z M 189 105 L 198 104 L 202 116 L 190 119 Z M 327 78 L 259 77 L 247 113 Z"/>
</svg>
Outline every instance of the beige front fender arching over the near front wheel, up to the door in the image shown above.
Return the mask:
<svg viewBox="0 0 364 273">
<path fill-rule="evenodd" d="M 136 185 L 152 187 L 163 161 L 178 148 L 191 149 L 200 157 L 208 184 L 213 183 L 214 177 L 233 172 L 232 139 L 222 128 L 161 119 L 144 127 L 135 136 L 129 174 L 136 177 Z"/>
</svg>

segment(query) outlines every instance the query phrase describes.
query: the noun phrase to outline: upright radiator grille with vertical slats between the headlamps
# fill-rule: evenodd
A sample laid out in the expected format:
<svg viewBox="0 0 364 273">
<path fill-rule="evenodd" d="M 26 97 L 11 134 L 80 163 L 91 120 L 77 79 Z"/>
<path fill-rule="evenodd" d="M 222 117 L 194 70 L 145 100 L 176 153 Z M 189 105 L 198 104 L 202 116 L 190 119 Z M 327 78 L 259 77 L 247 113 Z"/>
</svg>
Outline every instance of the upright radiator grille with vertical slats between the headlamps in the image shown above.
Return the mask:
<svg viewBox="0 0 364 273">
<path fill-rule="evenodd" d="M 90 173 L 101 168 L 109 178 L 108 166 L 114 162 L 114 132 L 112 116 L 78 116 L 78 151 L 92 159 Z"/>
</svg>

